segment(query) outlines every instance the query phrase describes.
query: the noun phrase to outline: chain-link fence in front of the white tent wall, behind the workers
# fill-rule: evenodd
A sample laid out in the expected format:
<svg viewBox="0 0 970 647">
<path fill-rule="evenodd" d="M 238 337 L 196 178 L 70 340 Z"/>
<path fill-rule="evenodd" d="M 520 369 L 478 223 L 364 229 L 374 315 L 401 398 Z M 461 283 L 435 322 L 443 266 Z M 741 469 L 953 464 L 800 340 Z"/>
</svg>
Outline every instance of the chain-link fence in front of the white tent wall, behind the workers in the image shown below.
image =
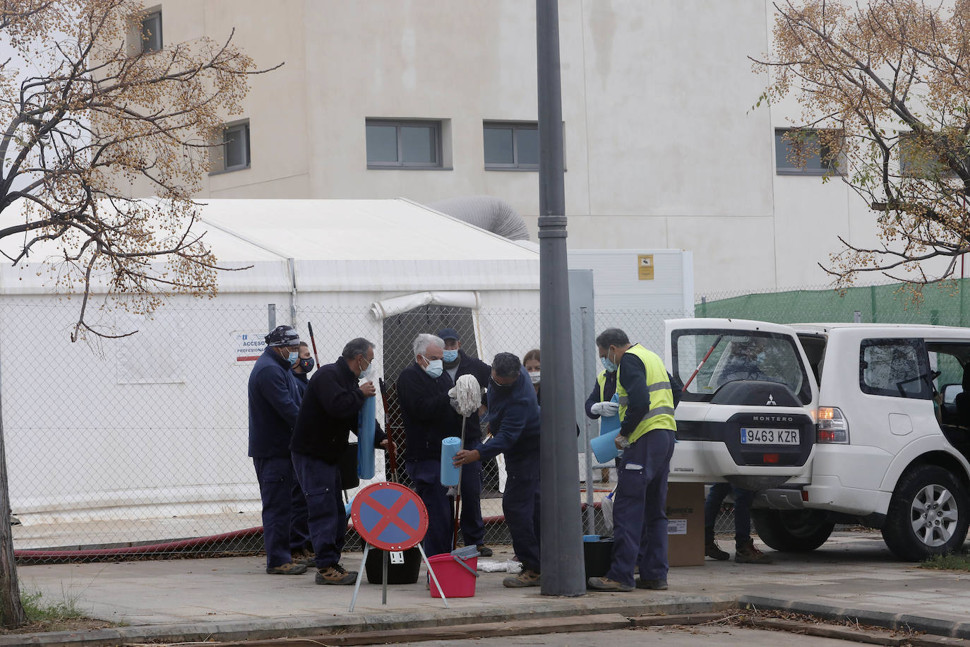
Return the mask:
<svg viewBox="0 0 970 647">
<path fill-rule="evenodd" d="M 151 317 L 109 313 L 114 331 L 138 333 L 86 343 L 68 337 L 78 313 L 74 301 L 0 302 L 4 437 L 21 563 L 262 550 L 259 489 L 246 456 L 246 385 L 273 323 L 292 321 L 305 339 L 312 323 L 322 364 L 335 361 L 347 340 L 374 341 L 384 385 L 378 420 L 402 449 L 406 434 L 394 385 L 414 361 L 418 333 L 455 328 L 463 350 L 486 362 L 501 351 L 522 357 L 539 341 L 534 311 L 429 306 L 378 318 L 370 310 L 325 307 L 296 307 L 293 316 L 280 307 L 274 322 L 265 302 L 227 300 L 184 301 Z M 663 319 L 682 315 L 574 313 L 577 504 L 598 507 L 616 483 L 612 466 L 593 457 L 587 464 L 583 451 L 587 435 L 598 435 L 598 422 L 583 408 L 601 371 L 596 332 L 617 326 L 663 352 Z M 393 475 L 384 452 L 377 452 L 376 465 L 373 481 Z M 408 484 L 404 469 L 398 475 Z M 503 487 L 501 462 L 485 465 L 488 544 L 509 542 Z M 348 501 L 354 492 L 346 493 Z M 587 532 L 603 530 L 598 511 L 584 523 Z M 359 547 L 351 531 L 347 548 Z"/>
</svg>

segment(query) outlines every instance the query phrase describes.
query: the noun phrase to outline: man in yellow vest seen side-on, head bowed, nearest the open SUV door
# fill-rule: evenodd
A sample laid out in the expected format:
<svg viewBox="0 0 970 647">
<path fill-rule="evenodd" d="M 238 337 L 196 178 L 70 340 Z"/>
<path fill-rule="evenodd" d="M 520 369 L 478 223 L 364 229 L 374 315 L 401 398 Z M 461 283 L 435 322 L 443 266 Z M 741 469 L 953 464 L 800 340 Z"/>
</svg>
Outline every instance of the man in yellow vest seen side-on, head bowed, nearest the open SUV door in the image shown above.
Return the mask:
<svg viewBox="0 0 970 647">
<path fill-rule="evenodd" d="M 597 337 L 600 361 L 616 371 L 623 451 L 613 503 L 613 560 L 605 577 L 591 577 L 594 591 L 666 589 L 666 484 L 673 456 L 673 392 L 663 360 L 619 328 Z"/>
</svg>

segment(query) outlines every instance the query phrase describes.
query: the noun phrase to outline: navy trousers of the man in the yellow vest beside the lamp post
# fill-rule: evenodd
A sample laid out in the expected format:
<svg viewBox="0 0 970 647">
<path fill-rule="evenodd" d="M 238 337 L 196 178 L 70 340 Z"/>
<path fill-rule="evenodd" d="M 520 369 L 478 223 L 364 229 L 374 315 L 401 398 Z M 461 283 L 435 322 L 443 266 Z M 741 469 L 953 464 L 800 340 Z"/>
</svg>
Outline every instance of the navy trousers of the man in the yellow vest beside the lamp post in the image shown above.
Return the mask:
<svg viewBox="0 0 970 647">
<path fill-rule="evenodd" d="M 613 561 L 606 577 L 633 586 L 640 578 L 665 580 L 667 574 L 666 482 L 673 456 L 673 432 L 655 429 L 623 452 L 613 502 Z"/>
</svg>

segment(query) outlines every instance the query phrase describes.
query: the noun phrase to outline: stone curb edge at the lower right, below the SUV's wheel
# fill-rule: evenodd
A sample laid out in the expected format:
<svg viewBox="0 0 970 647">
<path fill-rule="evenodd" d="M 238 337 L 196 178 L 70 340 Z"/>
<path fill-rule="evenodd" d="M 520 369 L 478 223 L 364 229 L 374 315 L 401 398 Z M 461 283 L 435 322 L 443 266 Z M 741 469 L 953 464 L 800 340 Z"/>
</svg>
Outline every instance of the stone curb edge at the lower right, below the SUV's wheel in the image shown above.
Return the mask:
<svg viewBox="0 0 970 647">
<path fill-rule="evenodd" d="M 793 611 L 823 618 L 824 620 L 844 620 L 854 618 L 860 623 L 874 625 L 890 630 L 915 630 L 945 635 L 951 638 L 970 639 L 970 622 L 957 623 L 952 620 L 927 618 L 912 613 L 888 613 L 870 609 L 854 609 L 851 607 L 819 604 L 800 600 L 781 598 L 762 598 L 760 596 L 741 596 L 737 599 L 739 606 L 751 604 L 759 609 L 773 609 L 776 611 Z"/>
</svg>

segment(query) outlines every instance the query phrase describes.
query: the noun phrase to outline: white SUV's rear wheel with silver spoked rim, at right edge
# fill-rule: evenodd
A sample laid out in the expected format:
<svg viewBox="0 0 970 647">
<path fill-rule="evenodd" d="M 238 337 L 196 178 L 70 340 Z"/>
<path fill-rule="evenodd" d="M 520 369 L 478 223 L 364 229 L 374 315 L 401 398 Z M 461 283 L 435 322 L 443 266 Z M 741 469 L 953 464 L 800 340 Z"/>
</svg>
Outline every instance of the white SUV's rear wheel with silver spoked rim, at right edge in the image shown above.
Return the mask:
<svg viewBox="0 0 970 647">
<path fill-rule="evenodd" d="M 920 562 L 962 546 L 968 521 L 966 488 L 947 469 L 924 465 L 896 484 L 883 539 L 899 559 Z"/>
</svg>

